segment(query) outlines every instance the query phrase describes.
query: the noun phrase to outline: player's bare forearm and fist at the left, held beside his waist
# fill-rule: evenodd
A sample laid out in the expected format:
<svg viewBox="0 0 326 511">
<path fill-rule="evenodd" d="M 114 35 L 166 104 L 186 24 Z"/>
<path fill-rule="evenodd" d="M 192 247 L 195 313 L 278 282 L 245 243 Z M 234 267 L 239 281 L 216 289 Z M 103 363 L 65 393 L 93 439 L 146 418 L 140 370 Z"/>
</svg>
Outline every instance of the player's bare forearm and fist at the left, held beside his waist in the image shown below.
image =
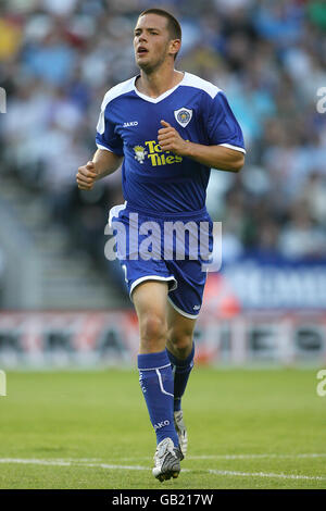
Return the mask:
<svg viewBox="0 0 326 511">
<path fill-rule="evenodd" d="M 96 180 L 115 172 L 123 161 L 123 157 L 104 149 L 98 149 L 92 161 L 78 167 L 76 180 L 80 190 L 91 190 Z"/>
</svg>

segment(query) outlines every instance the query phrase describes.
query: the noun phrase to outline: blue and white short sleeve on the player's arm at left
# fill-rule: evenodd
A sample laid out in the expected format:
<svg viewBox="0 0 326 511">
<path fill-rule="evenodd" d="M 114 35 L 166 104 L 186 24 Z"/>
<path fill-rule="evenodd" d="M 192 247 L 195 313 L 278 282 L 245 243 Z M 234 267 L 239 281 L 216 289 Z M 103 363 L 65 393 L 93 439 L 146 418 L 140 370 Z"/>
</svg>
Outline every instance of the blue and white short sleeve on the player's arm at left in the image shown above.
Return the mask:
<svg viewBox="0 0 326 511">
<path fill-rule="evenodd" d="M 101 112 L 97 125 L 96 136 L 97 147 L 104 149 L 115 154 L 123 157 L 123 140 L 116 133 L 116 125 L 110 116 L 110 103 L 105 101 L 105 98 L 101 105 Z"/>
</svg>

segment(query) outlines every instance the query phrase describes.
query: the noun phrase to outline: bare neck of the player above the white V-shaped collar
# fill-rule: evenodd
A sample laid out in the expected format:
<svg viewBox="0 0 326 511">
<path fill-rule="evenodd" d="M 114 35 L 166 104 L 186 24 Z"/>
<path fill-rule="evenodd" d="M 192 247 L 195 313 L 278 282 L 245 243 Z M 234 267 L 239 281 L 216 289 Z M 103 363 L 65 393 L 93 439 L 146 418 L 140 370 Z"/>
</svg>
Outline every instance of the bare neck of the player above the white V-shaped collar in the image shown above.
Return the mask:
<svg viewBox="0 0 326 511">
<path fill-rule="evenodd" d="M 176 70 L 160 68 L 152 73 L 140 71 L 140 77 L 136 80 L 136 87 L 139 92 L 149 96 L 150 98 L 158 98 L 166 90 L 172 89 L 178 85 L 184 78 L 184 73 Z"/>
</svg>

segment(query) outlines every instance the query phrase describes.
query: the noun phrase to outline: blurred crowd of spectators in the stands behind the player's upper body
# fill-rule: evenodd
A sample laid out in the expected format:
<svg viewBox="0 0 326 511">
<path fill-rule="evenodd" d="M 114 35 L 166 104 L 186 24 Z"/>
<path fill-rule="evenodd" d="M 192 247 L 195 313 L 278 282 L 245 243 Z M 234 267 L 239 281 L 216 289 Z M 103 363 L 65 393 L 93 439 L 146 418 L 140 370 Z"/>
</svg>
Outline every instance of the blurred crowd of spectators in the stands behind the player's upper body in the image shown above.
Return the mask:
<svg viewBox="0 0 326 511">
<path fill-rule="evenodd" d="M 78 191 L 105 91 L 137 73 L 133 29 L 149 7 L 183 27 L 176 67 L 222 88 L 243 129 L 237 174 L 212 171 L 208 205 L 225 257 L 326 259 L 326 3 L 303 0 L 10 0 L 0 8 L 0 174 L 47 198 L 53 222 L 103 258 L 121 173 Z M 323 92 L 323 91 L 322 91 Z M 325 99 L 326 107 L 326 99 Z"/>
</svg>

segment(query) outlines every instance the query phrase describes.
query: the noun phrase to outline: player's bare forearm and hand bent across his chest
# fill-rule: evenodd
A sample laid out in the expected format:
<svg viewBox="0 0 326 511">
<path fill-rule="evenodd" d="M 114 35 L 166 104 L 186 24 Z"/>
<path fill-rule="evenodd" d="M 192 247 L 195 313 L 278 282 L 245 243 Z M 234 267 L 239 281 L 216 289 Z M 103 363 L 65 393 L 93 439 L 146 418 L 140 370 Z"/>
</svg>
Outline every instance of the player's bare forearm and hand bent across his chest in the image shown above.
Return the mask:
<svg viewBox="0 0 326 511">
<path fill-rule="evenodd" d="M 163 127 L 159 129 L 159 144 L 162 151 L 172 151 L 221 171 L 239 172 L 242 169 L 244 154 L 241 151 L 224 146 L 203 146 L 184 140 L 168 123 L 161 121 L 161 124 Z"/>
</svg>

